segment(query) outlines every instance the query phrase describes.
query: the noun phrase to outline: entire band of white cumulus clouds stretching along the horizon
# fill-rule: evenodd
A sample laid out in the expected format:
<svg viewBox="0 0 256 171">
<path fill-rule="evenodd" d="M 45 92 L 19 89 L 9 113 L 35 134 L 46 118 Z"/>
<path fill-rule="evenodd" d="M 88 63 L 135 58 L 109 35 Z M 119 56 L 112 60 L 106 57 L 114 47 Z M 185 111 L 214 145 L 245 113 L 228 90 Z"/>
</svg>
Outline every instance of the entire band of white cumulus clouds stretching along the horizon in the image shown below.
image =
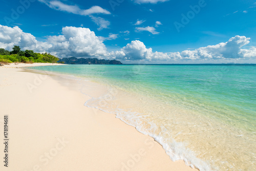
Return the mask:
<svg viewBox="0 0 256 171">
<path fill-rule="evenodd" d="M 117 34 L 110 33 L 107 39 L 116 39 Z M 146 48 L 139 40 L 131 41 L 119 51 L 109 52 L 103 44 L 103 39 L 96 36 L 88 28 L 63 27 L 60 35 L 48 36 L 46 42 L 37 41 L 30 34 L 19 27 L 13 28 L 0 25 L 0 48 L 11 51 L 14 45 L 22 50 L 35 52 L 50 52 L 57 57 L 97 57 L 104 59 L 118 59 L 122 61 L 162 61 L 172 62 L 207 62 L 207 61 L 239 61 L 256 59 L 256 47 L 242 49 L 250 42 L 245 36 L 231 37 L 227 42 L 182 52 L 153 52 Z"/>
</svg>

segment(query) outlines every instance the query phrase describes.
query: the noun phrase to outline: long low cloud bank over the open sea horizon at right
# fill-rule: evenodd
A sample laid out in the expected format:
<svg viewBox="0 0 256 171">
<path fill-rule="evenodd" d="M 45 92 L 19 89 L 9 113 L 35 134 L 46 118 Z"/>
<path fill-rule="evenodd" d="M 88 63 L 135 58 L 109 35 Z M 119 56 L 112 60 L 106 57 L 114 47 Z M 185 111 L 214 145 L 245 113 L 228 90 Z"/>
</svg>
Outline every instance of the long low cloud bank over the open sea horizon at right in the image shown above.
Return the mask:
<svg viewBox="0 0 256 171">
<path fill-rule="evenodd" d="M 227 42 L 218 45 L 198 48 L 196 50 L 185 50 L 182 52 L 162 53 L 153 52 L 152 48 L 146 48 L 143 42 L 139 40 L 132 41 L 121 49 L 124 52 L 124 59 L 127 60 L 216 60 L 216 59 L 238 59 L 238 58 L 256 58 L 256 48 L 241 49 L 249 44 L 250 38 L 245 36 L 235 36 Z"/>
</svg>

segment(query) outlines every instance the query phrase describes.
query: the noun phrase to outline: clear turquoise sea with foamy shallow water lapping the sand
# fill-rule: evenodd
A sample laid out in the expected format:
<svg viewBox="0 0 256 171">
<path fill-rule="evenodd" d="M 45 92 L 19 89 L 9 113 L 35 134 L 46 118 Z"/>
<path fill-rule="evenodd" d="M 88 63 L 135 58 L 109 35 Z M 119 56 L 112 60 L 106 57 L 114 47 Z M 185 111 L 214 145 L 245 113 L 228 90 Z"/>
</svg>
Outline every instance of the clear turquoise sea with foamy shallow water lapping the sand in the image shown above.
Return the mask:
<svg viewBox="0 0 256 171">
<path fill-rule="evenodd" d="M 116 114 L 200 170 L 256 170 L 256 65 L 67 65 L 33 69 L 98 82 L 84 105 Z M 81 93 L 87 94 L 81 89 Z"/>
</svg>

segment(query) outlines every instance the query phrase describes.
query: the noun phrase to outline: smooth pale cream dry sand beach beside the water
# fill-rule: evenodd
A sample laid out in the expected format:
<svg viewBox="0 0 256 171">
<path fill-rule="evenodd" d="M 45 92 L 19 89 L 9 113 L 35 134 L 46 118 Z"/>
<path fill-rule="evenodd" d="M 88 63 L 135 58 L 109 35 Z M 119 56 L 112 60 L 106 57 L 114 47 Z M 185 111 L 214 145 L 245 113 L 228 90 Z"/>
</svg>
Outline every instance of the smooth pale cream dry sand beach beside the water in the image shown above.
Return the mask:
<svg viewBox="0 0 256 171">
<path fill-rule="evenodd" d="M 0 134 L 3 142 L 8 115 L 9 139 L 8 167 L 2 161 L 0 170 L 197 170 L 171 161 L 115 115 L 84 106 L 90 97 L 76 81 L 24 71 L 0 67 Z M 2 160 L 4 149 L 1 143 Z"/>
</svg>

